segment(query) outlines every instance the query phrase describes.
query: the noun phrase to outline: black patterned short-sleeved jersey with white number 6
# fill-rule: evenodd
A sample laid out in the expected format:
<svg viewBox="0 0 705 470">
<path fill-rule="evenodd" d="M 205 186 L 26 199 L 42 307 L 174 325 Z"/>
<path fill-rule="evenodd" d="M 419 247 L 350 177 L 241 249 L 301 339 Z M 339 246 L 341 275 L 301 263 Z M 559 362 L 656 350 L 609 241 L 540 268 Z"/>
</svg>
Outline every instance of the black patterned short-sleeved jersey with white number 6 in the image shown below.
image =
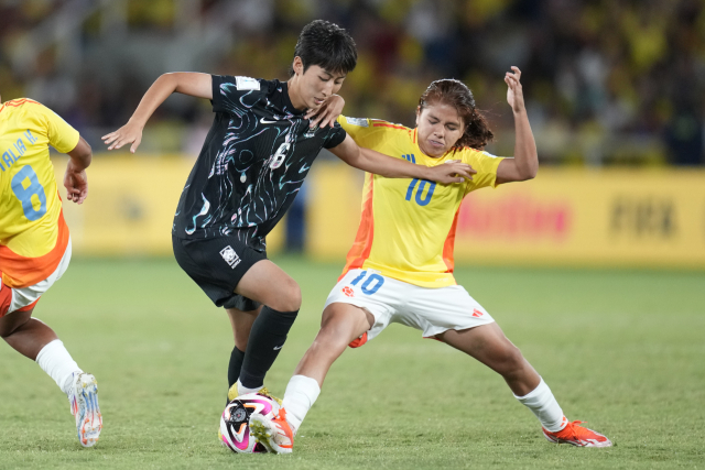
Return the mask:
<svg viewBox="0 0 705 470">
<path fill-rule="evenodd" d="M 174 236 L 236 236 L 263 250 L 321 149 L 346 132 L 337 122 L 311 129 L 276 79 L 214 75 L 212 102 L 216 117 L 181 195 Z"/>
</svg>

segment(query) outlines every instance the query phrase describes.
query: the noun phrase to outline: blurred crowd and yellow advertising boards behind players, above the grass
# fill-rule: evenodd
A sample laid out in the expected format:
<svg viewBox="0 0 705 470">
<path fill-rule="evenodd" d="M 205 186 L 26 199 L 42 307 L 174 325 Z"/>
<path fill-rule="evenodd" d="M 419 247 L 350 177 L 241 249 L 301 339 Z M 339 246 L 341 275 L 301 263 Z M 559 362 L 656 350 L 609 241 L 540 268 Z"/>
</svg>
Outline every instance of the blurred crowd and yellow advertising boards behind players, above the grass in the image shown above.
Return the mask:
<svg viewBox="0 0 705 470">
<path fill-rule="evenodd" d="M 2 1 L 0 94 L 54 109 L 93 145 L 90 197 L 66 207 L 77 255 L 169 255 L 178 194 L 212 121 L 167 99 L 137 156 L 100 135 L 162 73 L 288 77 L 301 26 L 347 28 L 359 63 L 346 114 L 413 125 L 440 77 L 474 90 L 513 151 L 502 75 L 523 70 L 541 159 L 530 184 L 463 206 L 459 264 L 705 267 L 705 7 L 702 1 L 154 0 Z M 64 162 L 57 157 L 57 173 Z M 361 174 L 324 154 L 270 252 L 340 261 Z"/>
</svg>

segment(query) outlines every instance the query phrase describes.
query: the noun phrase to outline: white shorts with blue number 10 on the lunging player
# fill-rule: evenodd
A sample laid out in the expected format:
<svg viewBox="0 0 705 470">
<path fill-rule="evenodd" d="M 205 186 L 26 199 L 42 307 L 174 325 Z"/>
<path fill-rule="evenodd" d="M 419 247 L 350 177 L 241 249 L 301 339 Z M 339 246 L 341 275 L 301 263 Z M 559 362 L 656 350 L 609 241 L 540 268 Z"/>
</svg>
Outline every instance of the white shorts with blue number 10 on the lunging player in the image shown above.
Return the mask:
<svg viewBox="0 0 705 470">
<path fill-rule="evenodd" d="M 330 291 L 325 306 L 336 302 L 365 308 L 375 317 L 372 328 L 352 347 L 375 338 L 391 323 L 420 329 L 431 338 L 495 321 L 463 286 L 420 287 L 373 270 L 349 271 Z"/>
</svg>

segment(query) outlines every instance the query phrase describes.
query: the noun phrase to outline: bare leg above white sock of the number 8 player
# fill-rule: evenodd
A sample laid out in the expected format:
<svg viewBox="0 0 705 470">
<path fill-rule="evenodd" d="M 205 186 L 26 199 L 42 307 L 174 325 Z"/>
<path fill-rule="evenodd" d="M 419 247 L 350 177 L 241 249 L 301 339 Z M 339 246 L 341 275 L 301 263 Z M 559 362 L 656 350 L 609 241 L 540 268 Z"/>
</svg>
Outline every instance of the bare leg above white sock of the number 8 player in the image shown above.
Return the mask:
<svg viewBox="0 0 705 470">
<path fill-rule="evenodd" d="M 44 323 L 32 318 L 32 311 L 13 311 L 0 318 L 0 337 L 20 354 L 36 360 L 50 342 L 58 339 L 53 329 Z"/>
</svg>

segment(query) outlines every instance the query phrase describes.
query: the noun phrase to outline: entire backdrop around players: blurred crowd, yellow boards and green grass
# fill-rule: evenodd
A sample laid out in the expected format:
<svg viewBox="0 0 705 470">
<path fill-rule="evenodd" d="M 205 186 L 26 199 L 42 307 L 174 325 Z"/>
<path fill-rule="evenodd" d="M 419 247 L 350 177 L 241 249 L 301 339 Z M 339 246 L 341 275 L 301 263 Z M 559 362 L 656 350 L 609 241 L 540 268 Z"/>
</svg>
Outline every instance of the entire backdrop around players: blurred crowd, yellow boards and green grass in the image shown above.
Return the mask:
<svg viewBox="0 0 705 470">
<path fill-rule="evenodd" d="M 292 458 L 220 448 L 232 334 L 169 239 L 209 106 L 169 98 L 135 155 L 108 154 L 100 136 L 165 72 L 285 78 L 316 18 L 358 43 L 348 114 L 412 125 L 422 90 L 453 76 L 500 155 L 513 147 L 501 78 L 522 68 L 539 176 L 467 198 L 456 278 L 568 418 L 614 448 L 549 445 L 496 373 L 399 325 L 336 362 Z M 704 91 L 701 0 L 0 0 L 2 99 L 50 106 L 95 152 L 88 200 L 64 205 L 75 255 L 35 316 L 96 374 L 106 425 L 80 448 L 65 396 L 0 342 L 0 469 L 702 468 Z M 267 378 L 280 396 L 340 273 L 361 185 L 321 155 L 270 237 L 303 293 Z"/>
</svg>

